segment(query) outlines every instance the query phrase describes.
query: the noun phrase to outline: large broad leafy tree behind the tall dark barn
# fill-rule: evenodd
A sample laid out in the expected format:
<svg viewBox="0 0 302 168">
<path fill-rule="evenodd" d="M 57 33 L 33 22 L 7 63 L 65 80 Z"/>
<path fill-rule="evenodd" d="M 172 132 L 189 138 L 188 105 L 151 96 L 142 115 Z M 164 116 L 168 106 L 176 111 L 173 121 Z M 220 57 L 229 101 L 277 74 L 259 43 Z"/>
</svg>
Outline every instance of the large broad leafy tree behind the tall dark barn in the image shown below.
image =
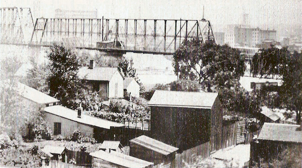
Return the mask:
<svg viewBox="0 0 302 168">
<path fill-rule="evenodd" d="M 175 73 L 180 79 L 196 80 L 207 91 L 230 87 L 230 80 L 239 79 L 246 69 L 240 52 L 228 45 L 203 43 L 199 39 L 184 41 L 173 55 Z"/>
</svg>

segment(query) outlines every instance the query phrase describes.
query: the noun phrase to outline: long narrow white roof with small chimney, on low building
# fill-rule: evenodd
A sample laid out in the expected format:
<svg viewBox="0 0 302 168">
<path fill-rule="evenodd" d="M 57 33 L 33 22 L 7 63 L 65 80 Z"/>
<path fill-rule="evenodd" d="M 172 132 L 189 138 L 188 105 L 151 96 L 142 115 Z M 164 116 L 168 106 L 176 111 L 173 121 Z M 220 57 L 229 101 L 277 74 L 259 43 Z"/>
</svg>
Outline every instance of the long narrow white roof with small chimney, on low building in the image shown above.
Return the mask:
<svg viewBox="0 0 302 168">
<path fill-rule="evenodd" d="M 67 118 L 78 123 L 92 125 L 100 128 L 110 129 L 110 127 L 123 127 L 124 124 L 116 123 L 113 121 L 104 120 L 97 117 L 88 116 L 85 114 L 81 115 L 81 118 L 78 117 L 78 113 L 75 110 L 71 110 L 67 107 L 61 105 L 45 107 L 44 111 L 57 115 L 59 117 Z"/>
</svg>

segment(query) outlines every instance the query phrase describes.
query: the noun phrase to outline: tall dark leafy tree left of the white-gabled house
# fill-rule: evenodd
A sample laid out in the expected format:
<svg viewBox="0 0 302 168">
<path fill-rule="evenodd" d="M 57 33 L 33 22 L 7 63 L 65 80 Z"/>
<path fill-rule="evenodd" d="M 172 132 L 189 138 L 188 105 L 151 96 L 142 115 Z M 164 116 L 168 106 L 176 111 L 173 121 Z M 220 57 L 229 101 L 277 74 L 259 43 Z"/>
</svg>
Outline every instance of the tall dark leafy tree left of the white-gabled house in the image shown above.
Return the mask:
<svg viewBox="0 0 302 168">
<path fill-rule="evenodd" d="M 48 58 L 50 60 L 50 74 L 47 81 L 50 96 L 59 99 L 64 106 L 76 107 L 77 91 L 81 85 L 77 77 L 80 64 L 76 55 L 71 49 L 54 44 L 50 47 Z"/>
</svg>

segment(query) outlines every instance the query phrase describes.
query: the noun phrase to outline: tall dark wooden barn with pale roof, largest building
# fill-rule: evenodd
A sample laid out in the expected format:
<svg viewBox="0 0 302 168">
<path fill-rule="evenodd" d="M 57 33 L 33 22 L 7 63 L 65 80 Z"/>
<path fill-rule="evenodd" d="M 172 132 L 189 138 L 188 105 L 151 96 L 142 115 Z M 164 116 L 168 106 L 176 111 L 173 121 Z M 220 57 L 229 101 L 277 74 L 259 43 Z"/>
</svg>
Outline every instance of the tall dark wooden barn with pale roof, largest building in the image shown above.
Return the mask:
<svg viewBox="0 0 302 168">
<path fill-rule="evenodd" d="M 217 93 L 156 90 L 148 103 L 154 139 L 179 151 L 210 141 L 221 149 L 222 107 Z"/>
</svg>

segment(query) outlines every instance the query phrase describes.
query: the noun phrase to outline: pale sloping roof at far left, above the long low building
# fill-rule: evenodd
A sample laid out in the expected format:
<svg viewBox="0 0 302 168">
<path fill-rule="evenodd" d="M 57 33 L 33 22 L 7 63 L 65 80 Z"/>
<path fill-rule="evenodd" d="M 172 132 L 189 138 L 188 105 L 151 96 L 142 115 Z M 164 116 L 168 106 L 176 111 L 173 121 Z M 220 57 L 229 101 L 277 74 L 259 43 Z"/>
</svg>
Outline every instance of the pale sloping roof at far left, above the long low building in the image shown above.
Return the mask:
<svg viewBox="0 0 302 168">
<path fill-rule="evenodd" d="M 45 93 L 42 93 L 25 84 L 21 84 L 20 82 L 18 82 L 18 84 L 17 84 L 17 91 L 18 91 L 18 94 L 20 94 L 22 97 L 25 97 L 29 100 L 32 100 L 32 101 L 40 103 L 40 104 L 49 104 L 49 103 L 59 102 L 58 99 L 51 97 Z"/>
</svg>

